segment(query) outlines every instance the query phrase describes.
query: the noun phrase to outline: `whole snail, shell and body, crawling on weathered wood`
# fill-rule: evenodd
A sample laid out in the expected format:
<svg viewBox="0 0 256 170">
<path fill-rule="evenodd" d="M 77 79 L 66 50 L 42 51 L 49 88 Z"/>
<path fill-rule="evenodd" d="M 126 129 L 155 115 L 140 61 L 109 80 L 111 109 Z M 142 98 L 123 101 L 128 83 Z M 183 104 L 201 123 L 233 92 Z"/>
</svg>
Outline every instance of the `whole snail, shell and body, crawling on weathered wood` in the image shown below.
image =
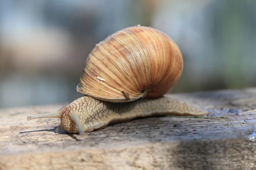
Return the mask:
<svg viewBox="0 0 256 170">
<path fill-rule="evenodd" d="M 84 134 L 141 117 L 208 114 L 164 96 L 182 72 L 183 57 L 169 36 L 152 27 L 124 28 L 96 44 L 87 57 L 76 88 L 84 96 L 56 113 L 27 120 L 60 118 L 56 132 Z"/>
</svg>

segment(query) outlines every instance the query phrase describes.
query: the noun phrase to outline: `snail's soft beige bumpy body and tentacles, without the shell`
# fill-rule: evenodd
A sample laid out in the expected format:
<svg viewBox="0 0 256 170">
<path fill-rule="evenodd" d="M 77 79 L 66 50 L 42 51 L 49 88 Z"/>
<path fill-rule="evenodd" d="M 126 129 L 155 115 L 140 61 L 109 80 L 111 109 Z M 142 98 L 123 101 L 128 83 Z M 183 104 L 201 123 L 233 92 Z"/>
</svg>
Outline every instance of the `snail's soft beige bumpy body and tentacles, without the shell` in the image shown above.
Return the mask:
<svg viewBox="0 0 256 170">
<path fill-rule="evenodd" d="M 56 113 L 47 113 L 38 116 L 28 116 L 27 120 L 38 118 L 60 118 L 61 125 L 56 131 L 63 128 L 68 133 L 91 132 L 107 127 L 110 124 L 128 122 L 139 117 L 164 115 L 193 115 L 208 114 L 186 103 L 161 97 L 159 99 L 138 99 L 128 103 L 112 103 L 83 96 L 67 105 Z"/>
</svg>

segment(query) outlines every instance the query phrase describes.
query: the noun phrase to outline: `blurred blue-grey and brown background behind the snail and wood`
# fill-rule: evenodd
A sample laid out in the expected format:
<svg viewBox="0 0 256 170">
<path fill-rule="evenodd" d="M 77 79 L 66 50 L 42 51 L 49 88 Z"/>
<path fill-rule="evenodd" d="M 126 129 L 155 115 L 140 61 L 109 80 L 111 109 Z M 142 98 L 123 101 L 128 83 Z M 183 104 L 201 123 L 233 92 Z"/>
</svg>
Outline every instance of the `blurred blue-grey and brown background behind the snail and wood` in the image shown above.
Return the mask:
<svg viewBox="0 0 256 170">
<path fill-rule="evenodd" d="M 0 108 L 77 99 L 95 44 L 137 24 L 179 45 L 172 93 L 256 86 L 256 0 L 0 0 Z"/>
</svg>

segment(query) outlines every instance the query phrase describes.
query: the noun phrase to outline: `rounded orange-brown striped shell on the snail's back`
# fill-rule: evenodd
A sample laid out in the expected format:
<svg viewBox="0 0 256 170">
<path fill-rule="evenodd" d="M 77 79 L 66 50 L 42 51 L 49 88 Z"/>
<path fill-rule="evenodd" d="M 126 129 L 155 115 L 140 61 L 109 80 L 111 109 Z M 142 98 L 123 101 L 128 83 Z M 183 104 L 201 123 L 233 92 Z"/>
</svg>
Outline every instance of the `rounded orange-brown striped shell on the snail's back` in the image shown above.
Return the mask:
<svg viewBox="0 0 256 170">
<path fill-rule="evenodd" d="M 158 98 L 168 93 L 183 71 L 177 44 L 155 28 L 122 29 L 96 44 L 77 91 L 109 102 Z"/>
</svg>

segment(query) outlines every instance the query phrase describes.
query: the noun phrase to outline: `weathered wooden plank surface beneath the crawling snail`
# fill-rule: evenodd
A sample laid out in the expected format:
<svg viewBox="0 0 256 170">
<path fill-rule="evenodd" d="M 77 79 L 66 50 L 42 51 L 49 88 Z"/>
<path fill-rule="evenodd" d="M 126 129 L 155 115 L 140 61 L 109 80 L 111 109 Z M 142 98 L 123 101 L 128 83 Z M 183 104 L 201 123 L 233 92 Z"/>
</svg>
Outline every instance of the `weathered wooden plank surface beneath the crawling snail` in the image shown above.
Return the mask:
<svg viewBox="0 0 256 170">
<path fill-rule="evenodd" d="M 26 120 L 64 105 L 2 109 L 0 170 L 256 169 L 256 112 L 242 113 L 256 109 L 256 88 L 169 96 L 210 115 L 136 119 L 79 136 L 55 133 L 60 119 Z"/>
</svg>

